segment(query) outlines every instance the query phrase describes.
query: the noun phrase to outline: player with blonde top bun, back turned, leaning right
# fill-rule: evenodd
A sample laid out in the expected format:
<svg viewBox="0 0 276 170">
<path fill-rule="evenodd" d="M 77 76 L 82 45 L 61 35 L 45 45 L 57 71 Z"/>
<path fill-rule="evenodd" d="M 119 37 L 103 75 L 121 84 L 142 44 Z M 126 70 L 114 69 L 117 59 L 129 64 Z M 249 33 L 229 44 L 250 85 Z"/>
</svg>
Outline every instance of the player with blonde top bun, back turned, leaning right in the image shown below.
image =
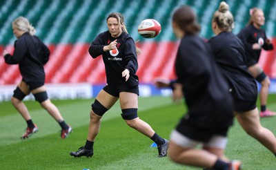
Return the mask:
<svg viewBox="0 0 276 170">
<path fill-rule="evenodd" d="M 231 31 L 234 18 L 227 3 L 221 2 L 219 10 L 213 15 L 212 28 L 215 37 L 209 40 L 215 61 L 227 79 L 233 95 L 234 113 L 246 133 L 276 153 L 276 138 L 271 131 L 259 122 L 256 106 L 257 84 L 247 70 L 244 45 Z"/>
</svg>

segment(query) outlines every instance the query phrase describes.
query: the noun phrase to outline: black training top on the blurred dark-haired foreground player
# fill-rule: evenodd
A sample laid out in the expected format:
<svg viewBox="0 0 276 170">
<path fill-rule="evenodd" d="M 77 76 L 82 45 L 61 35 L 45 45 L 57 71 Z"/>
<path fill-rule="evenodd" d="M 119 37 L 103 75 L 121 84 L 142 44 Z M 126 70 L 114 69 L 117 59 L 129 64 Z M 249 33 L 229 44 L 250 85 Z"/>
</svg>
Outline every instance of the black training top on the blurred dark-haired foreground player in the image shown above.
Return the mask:
<svg viewBox="0 0 276 170">
<path fill-rule="evenodd" d="M 188 106 L 188 115 L 181 121 L 199 128 L 227 128 L 233 124 L 233 101 L 211 55 L 209 44 L 200 37 L 181 39 L 175 70 Z"/>
</svg>

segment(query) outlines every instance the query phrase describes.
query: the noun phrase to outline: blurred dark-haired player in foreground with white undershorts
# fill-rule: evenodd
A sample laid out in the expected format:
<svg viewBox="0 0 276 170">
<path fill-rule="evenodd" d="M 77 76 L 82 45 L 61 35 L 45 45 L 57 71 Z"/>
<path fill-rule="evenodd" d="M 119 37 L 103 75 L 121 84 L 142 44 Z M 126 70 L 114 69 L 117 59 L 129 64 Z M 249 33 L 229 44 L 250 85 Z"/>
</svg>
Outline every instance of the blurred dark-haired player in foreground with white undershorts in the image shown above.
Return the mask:
<svg viewBox="0 0 276 170">
<path fill-rule="evenodd" d="M 181 39 L 175 71 L 175 100 L 185 96 L 188 113 L 170 135 L 168 155 L 179 164 L 207 169 L 239 169 L 241 162 L 224 155 L 233 124 L 233 102 L 228 85 L 213 60 L 210 46 L 197 34 L 195 12 L 181 6 L 172 15 L 172 29 Z M 202 144 L 202 148 L 197 146 Z"/>
</svg>

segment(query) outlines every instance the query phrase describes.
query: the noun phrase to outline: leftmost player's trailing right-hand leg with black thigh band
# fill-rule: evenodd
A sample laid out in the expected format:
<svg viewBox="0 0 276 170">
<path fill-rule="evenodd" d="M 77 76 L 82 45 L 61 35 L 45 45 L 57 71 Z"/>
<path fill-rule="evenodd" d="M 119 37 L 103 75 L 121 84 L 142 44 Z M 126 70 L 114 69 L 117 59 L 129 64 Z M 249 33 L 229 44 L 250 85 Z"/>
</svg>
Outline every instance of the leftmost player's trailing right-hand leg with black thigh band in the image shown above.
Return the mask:
<svg viewBox="0 0 276 170">
<path fill-rule="evenodd" d="M 30 89 L 34 95 L 34 99 L 59 123 L 61 126 L 61 138 L 67 138 L 72 132 L 72 127 L 66 124 L 59 109 L 55 104 L 52 104 L 48 98 L 46 86 L 43 84 L 30 83 Z"/>
</svg>

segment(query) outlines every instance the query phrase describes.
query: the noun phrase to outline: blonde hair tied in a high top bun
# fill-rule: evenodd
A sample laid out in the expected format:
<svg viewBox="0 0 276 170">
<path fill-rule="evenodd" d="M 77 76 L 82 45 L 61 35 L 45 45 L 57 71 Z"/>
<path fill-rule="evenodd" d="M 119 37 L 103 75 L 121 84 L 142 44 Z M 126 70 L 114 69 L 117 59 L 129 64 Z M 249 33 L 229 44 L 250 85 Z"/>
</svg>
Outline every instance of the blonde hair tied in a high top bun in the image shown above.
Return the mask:
<svg viewBox="0 0 276 170">
<path fill-rule="evenodd" d="M 226 2 L 219 4 L 219 9 L 213 15 L 213 21 L 217 23 L 220 30 L 231 32 L 234 28 L 234 17 Z"/>
</svg>

